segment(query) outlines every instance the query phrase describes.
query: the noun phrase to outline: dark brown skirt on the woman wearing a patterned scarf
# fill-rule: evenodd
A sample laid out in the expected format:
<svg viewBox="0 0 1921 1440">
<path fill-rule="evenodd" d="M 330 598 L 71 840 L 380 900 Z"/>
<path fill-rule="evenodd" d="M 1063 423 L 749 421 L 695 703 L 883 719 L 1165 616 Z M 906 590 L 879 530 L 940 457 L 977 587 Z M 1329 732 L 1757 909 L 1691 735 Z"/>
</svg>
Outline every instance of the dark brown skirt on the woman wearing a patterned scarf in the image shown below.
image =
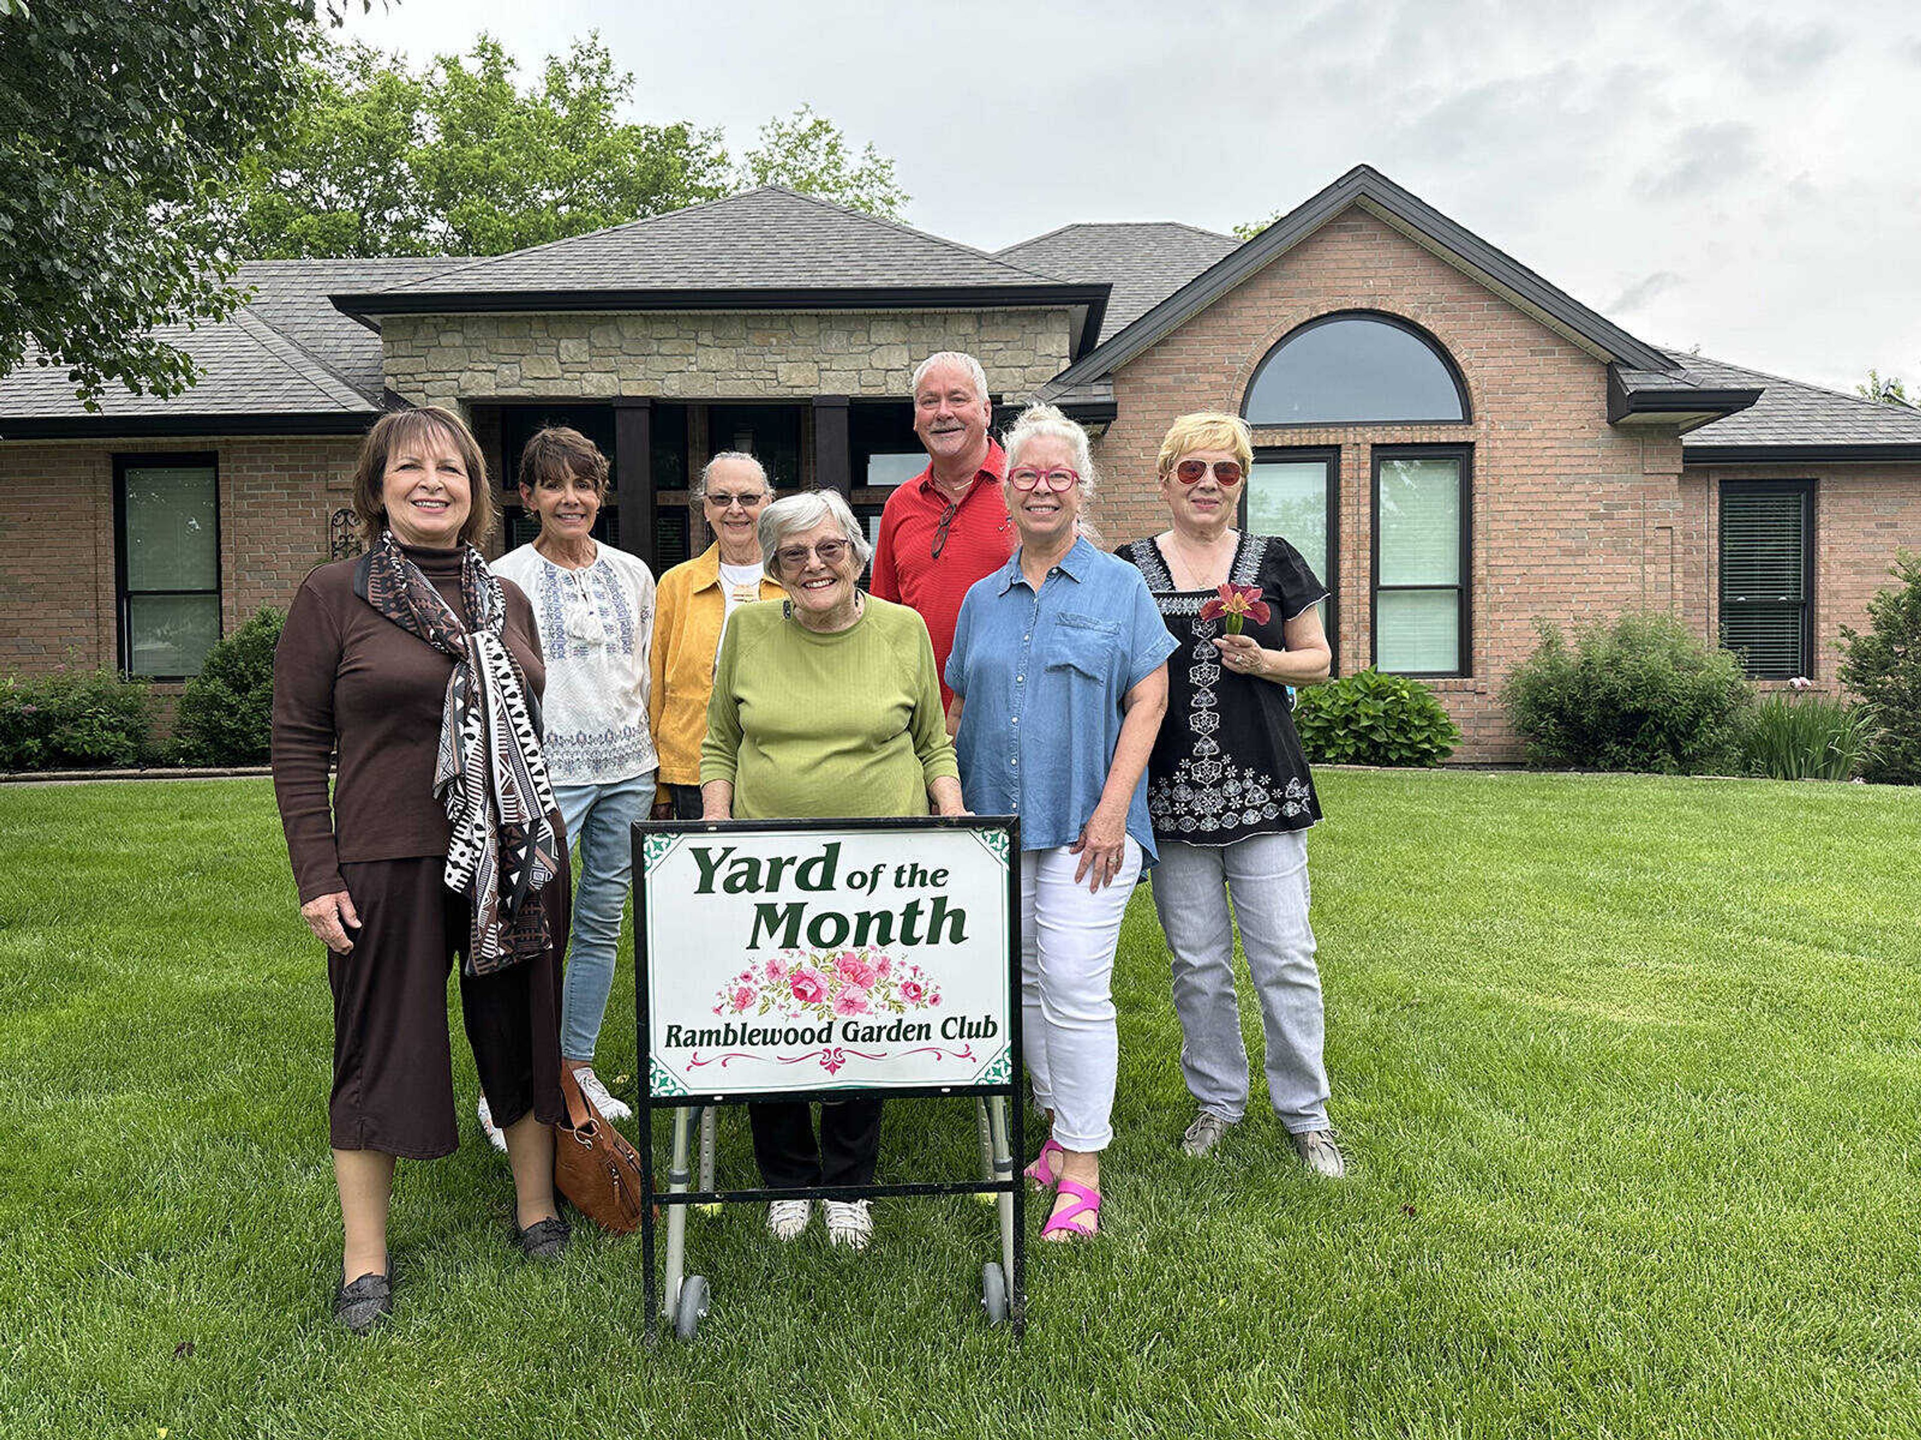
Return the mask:
<svg viewBox="0 0 1921 1440">
<path fill-rule="evenodd" d="M 327 956 L 334 993 L 334 1089 L 327 1133 L 336 1150 L 432 1160 L 459 1148 L 448 972 L 465 952 L 469 900 L 446 887 L 444 856 L 342 864 L 361 918 L 353 948 Z M 490 975 L 461 972 L 461 1021 L 494 1123 L 532 1110 L 546 1123 L 561 1100 L 561 956 L 571 876 L 540 891 L 553 947 Z"/>
</svg>

